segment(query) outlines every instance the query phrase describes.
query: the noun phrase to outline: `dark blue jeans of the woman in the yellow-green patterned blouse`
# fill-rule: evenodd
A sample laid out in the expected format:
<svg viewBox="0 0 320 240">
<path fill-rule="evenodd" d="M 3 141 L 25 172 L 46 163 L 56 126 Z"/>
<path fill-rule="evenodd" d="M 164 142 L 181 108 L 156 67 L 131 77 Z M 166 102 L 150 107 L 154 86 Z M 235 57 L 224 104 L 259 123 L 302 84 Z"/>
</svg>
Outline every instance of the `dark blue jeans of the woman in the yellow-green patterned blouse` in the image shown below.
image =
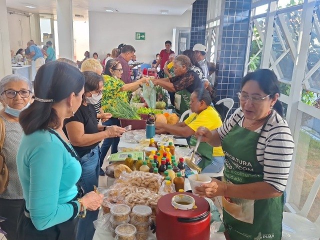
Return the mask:
<svg viewBox="0 0 320 240">
<path fill-rule="evenodd" d="M 120 126 L 120 121 L 116 117 L 111 117 L 105 122 L 102 122 L 104 126 L 112 126 L 117 125 Z M 120 137 L 108 137 L 104 138 L 103 143 L 101 145 L 101 155 L 100 155 L 100 167 L 103 164 L 104 157 L 106 153 L 108 152 L 110 146 L 111 146 L 111 153 L 118 152 L 118 143 L 120 141 Z"/>
</svg>

